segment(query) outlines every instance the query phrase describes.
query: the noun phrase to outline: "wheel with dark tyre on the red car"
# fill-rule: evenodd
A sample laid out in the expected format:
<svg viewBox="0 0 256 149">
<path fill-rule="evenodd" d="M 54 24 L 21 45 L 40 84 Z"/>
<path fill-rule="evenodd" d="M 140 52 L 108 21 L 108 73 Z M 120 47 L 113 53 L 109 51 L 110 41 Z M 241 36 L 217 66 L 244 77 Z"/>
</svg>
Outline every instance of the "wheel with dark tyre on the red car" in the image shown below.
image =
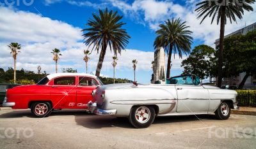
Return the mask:
<svg viewBox="0 0 256 149">
<path fill-rule="evenodd" d="M 31 106 L 31 113 L 35 117 L 48 117 L 52 112 L 52 106 L 48 102 L 40 101 L 35 102 Z"/>
</svg>

